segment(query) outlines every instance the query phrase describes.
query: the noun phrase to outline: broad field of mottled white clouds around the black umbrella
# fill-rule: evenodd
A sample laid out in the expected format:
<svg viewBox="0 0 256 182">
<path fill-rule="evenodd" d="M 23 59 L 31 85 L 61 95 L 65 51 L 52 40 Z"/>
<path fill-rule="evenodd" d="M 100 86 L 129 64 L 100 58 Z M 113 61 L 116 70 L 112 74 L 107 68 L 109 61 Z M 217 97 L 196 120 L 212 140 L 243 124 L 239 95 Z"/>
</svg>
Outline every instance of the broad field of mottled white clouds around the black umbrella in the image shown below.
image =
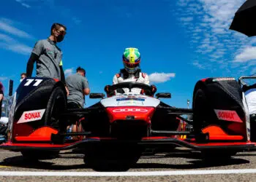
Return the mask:
<svg viewBox="0 0 256 182">
<path fill-rule="evenodd" d="M 195 50 L 197 62 L 192 63 L 197 68 L 219 70 L 219 65 L 225 71 L 234 68 L 234 63 L 241 66 L 256 58 L 253 44 L 256 37 L 248 38 L 242 33 L 229 30 L 237 9 L 245 0 L 178 0 L 173 15 L 177 16 L 182 27 L 189 36 L 189 47 Z M 192 21 L 193 20 L 193 21 Z M 247 67 L 242 71 L 254 68 Z"/>
</svg>

